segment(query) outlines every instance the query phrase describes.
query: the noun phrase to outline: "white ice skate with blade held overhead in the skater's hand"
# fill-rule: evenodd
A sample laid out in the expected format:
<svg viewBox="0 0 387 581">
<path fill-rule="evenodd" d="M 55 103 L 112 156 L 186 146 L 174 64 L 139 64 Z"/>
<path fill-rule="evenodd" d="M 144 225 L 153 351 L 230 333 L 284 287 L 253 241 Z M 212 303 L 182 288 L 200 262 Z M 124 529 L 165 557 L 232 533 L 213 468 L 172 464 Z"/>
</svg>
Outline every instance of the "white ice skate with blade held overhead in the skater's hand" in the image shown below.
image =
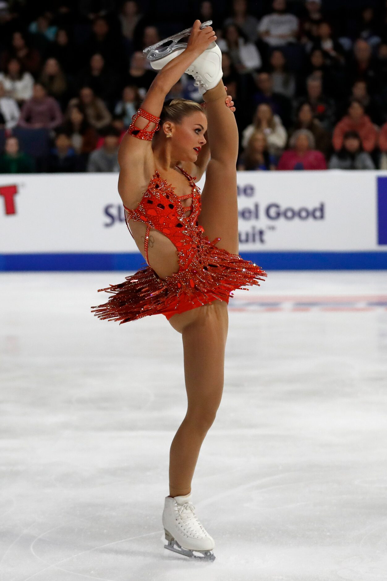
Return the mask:
<svg viewBox="0 0 387 581">
<path fill-rule="evenodd" d="M 212 20 L 207 20 L 201 24 L 200 28 L 210 26 Z M 150 60 L 151 67 L 156 70 L 162 69 L 167 63 L 176 56 L 181 55 L 187 47 L 186 42 L 178 42 L 185 36 L 190 34 L 191 28 L 186 28 L 181 33 L 174 34 L 171 37 L 157 42 L 154 45 L 148 46 L 144 49 L 144 54 Z M 172 40 L 172 44 L 165 46 L 168 41 Z M 163 46 L 164 45 L 164 46 Z M 222 71 L 222 52 L 216 42 L 212 42 L 204 52 L 199 55 L 194 62 L 185 71 L 194 77 L 194 85 L 199 88 L 200 94 L 204 94 L 209 89 L 213 89 L 223 77 Z"/>
</svg>

